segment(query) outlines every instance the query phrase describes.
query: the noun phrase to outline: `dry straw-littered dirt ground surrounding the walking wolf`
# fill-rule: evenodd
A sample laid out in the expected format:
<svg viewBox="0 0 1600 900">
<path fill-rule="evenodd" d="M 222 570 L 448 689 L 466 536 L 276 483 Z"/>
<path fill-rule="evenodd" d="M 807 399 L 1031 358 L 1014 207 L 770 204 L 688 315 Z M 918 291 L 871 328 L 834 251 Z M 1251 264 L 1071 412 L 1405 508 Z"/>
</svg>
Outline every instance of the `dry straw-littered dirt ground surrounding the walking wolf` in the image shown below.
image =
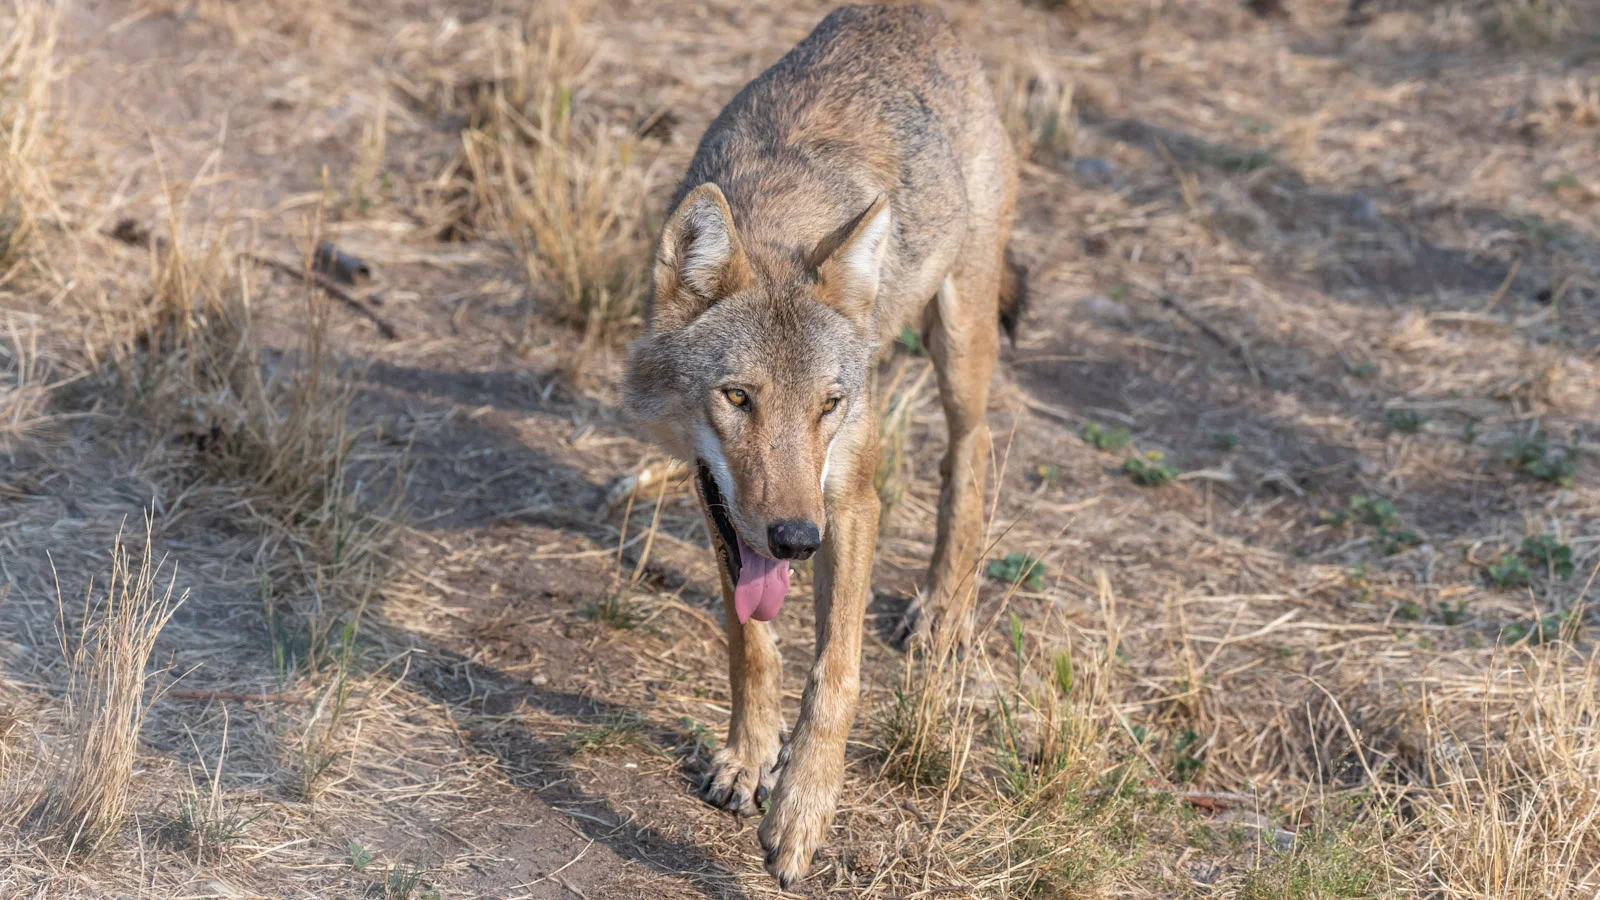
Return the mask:
<svg viewBox="0 0 1600 900">
<path fill-rule="evenodd" d="M 10 804 L 0 897 L 779 894 L 754 820 L 694 794 L 722 604 L 688 484 L 627 490 L 664 471 L 616 410 L 637 315 L 558 312 L 464 135 L 518 48 L 566 59 L 562 109 L 616 136 L 638 202 L 608 247 L 643 264 L 704 127 L 827 8 L 62 6 L 51 200 L 0 266 L 6 796 L 70 756 L 70 636 L 117 533 L 138 557 L 150 516 L 187 596 L 130 815 L 80 858 Z M 1042 578 L 981 580 L 965 773 L 896 778 L 915 681 L 890 633 L 944 436 L 926 359 L 886 352 L 867 687 L 800 894 L 1600 894 L 1600 10 L 941 8 L 1029 154 L 990 557 Z M 349 303 L 296 275 L 317 239 L 370 264 Z M 322 512 L 282 500 L 301 456 L 214 450 L 237 392 L 138 376 L 165 352 L 138 311 L 221 291 L 205 266 L 269 394 L 326 340 L 336 386 L 301 410 L 339 412 Z M 810 604 L 776 625 L 792 721 Z M 1062 655 L 1083 780 L 1018 788 L 1045 751 L 1014 722 L 1054 727 Z M 173 826 L 206 798 L 210 844 Z"/>
</svg>

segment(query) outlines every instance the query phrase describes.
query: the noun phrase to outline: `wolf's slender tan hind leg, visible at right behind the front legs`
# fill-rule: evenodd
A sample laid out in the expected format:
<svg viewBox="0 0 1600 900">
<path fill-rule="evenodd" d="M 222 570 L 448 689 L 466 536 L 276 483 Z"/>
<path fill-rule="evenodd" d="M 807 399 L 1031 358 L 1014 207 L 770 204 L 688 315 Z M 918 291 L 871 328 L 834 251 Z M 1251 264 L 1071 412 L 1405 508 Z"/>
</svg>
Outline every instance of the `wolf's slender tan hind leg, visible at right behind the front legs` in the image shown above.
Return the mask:
<svg viewBox="0 0 1600 900">
<path fill-rule="evenodd" d="M 1000 258 L 982 256 L 957 263 L 923 312 L 923 333 L 950 437 L 939 463 L 933 560 L 907 621 L 922 637 L 950 623 L 954 639 L 965 641 L 976 597 L 973 580 L 984 532 L 984 484 L 994 450 L 986 412 L 1000 351 Z"/>
</svg>

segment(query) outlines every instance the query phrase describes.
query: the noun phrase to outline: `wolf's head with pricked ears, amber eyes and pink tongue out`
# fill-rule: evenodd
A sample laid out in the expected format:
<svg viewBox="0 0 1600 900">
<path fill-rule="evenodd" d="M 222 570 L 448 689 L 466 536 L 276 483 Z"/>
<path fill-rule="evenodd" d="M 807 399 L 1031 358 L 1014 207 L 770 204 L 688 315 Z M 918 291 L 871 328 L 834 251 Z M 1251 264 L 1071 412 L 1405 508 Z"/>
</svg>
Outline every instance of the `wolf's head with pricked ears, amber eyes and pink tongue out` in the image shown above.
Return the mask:
<svg viewBox="0 0 1600 900">
<path fill-rule="evenodd" d="M 690 192 L 662 229 L 624 402 L 656 442 L 696 463 L 741 618 L 750 604 L 757 618 L 776 615 L 782 597 L 771 593 L 779 575 L 787 586 L 786 560 L 821 546 L 830 450 L 870 416 L 864 383 L 888 234 L 890 205 L 878 197 L 797 277 L 768 283 L 715 184 Z"/>
</svg>

